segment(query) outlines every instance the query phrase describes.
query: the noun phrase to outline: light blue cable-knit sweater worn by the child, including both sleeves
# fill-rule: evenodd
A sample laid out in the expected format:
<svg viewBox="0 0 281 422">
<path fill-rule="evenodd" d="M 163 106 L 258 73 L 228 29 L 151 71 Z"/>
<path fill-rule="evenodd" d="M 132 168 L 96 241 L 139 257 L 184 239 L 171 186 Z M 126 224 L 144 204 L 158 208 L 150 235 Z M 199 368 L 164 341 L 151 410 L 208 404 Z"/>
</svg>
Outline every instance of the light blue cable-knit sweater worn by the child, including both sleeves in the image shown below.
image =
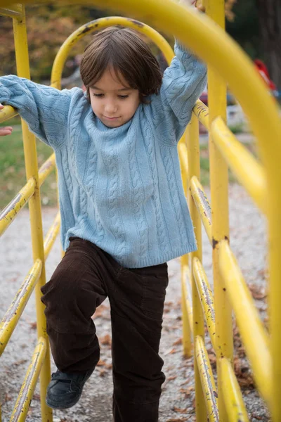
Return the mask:
<svg viewBox="0 0 281 422">
<path fill-rule="evenodd" d="M 136 268 L 196 249 L 177 143 L 206 84 L 206 69 L 177 44 L 175 53 L 159 95 L 113 129 L 93 114 L 81 89 L 0 78 L 0 103 L 18 108 L 55 151 L 65 250 L 70 236 L 78 236 Z"/>
</svg>

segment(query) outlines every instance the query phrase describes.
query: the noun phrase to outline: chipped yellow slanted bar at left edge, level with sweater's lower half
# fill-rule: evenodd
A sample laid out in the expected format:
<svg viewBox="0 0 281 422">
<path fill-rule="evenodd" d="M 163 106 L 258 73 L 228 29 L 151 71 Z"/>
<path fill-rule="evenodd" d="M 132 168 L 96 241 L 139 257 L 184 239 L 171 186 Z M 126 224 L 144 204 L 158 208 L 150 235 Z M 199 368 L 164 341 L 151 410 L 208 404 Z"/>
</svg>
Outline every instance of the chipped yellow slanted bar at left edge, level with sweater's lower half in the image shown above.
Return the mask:
<svg viewBox="0 0 281 422">
<path fill-rule="evenodd" d="M 27 204 L 28 200 L 34 193 L 35 180 L 32 177 L 27 181 L 27 184 L 20 189 L 15 198 L 11 200 L 4 210 L 0 213 L 0 236 L 4 234 L 4 231 L 10 226 L 15 217 L 18 215 L 20 210 Z"/>
</svg>

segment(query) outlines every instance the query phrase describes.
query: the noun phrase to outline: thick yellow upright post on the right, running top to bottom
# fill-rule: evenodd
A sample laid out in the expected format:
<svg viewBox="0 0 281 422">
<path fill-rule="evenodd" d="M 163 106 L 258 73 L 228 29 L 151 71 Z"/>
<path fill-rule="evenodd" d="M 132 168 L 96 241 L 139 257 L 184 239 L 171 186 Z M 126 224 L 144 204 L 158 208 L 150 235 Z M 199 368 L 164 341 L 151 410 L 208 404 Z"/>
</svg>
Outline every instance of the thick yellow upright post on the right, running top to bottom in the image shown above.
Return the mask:
<svg viewBox="0 0 281 422">
<path fill-rule="evenodd" d="M 207 0 L 206 12 L 214 22 L 225 29 L 225 0 Z M 217 117 L 226 120 L 226 82 L 211 65 L 208 66 L 208 106 L 209 125 Z M 211 230 L 213 246 L 214 300 L 216 312 L 216 358 L 218 373 L 218 409 L 221 422 L 228 422 L 223 403 L 221 383 L 221 357 L 233 360 L 232 309 L 224 290 L 223 279 L 218 269 L 218 245 L 224 238 L 229 239 L 228 222 L 228 167 L 209 134 L 209 162 L 211 188 Z"/>
</svg>

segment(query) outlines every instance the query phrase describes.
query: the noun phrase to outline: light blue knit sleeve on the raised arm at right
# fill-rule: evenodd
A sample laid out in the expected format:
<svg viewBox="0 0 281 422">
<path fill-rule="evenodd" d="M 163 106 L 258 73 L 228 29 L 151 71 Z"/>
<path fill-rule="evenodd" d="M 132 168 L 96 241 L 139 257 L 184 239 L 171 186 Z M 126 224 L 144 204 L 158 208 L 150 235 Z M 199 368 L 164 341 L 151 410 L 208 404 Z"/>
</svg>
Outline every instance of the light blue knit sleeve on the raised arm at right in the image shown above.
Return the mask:
<svg viewBox="0 0 281 422">
<path fill-rule="evenodd" d="M 181 139 L 192 108 L 207 84 L 206 66 L 176 41 L 176 56 L 164 72 L 158 95 L 152 95 L 150 113 L 164 143 Z"/>
</svg>

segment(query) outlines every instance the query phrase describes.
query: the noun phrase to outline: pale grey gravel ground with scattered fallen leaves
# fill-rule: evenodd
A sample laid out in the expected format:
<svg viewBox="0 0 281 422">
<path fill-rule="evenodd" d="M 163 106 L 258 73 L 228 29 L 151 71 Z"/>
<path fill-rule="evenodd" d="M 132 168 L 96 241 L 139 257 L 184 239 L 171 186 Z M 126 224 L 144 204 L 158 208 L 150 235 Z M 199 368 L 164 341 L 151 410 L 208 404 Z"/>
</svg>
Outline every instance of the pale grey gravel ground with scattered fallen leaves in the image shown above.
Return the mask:
<svg viewBox="0 0 281 422">
<path fill-rule="evenodd" d="M 55 217 L 55 210 L 44 209 L 44 231 Z M 264 291 L 266 288 L 266 224 L 260 213 L 238 186 L 230 186 L 230 239 L 233 251 L 251 288 Z M 211 281 L 211 247 L 203 234 L 204 268 Z M 23 210 L 10 226 L 0 243 L 0 316 L 4 316 L 8 305 L 32 265 L 30 251 L 30 224 L 27 210 Z M 50 278 L 60 259 L 60 245 L 56 241 L 47 261 L 47 279 Z M 184 359 L 181 346 L 181 286 L 180 261 L 169 262 L 169 288 L 166 296 L 164 327 L 160 353 L 164 359 L 164 383 L 160 404 L 159 422 L 194 421 L 194 382 L 192 359 Z M 266 302 L 256 300 L 261 312 L 266 311 Z M 15 404 L 25 371 L 37 342 L 34 324 L 34 295 L 0 359 L 0 402 L 2 421 L 8 422 Z M 104 302 L 95 316 L 101 345 L 101 361 L 86 384 L 80 402 L 67 411 L 54 411 L 54 422 L 111 422 L 111 353 L 110 313 Z M 235 345 L 240 347 L 239 337 Z M 211 349 L 207 339 L 207 347 Z M 211 352 L 211 351 L 210 351 Z M 210 355 L 211 357 L 212 355 Z M 214 360 L 214 359 L 213 359 Z M 239 361 L 240 373 L 244 377 L 243 395 L 252 422 L 270 421 L 258 393 L 247 381 L 251 378 L 247 359 Z M 214 364 L 213 364 L 214 367 Z M 53 370 L 55 367 L 53 366 Z M 40 397 L 37 388 L 27 416 L 27 422 L 39 422 Z M 133 421 L 132 421 L 133 422 Z"/>
</svg>

